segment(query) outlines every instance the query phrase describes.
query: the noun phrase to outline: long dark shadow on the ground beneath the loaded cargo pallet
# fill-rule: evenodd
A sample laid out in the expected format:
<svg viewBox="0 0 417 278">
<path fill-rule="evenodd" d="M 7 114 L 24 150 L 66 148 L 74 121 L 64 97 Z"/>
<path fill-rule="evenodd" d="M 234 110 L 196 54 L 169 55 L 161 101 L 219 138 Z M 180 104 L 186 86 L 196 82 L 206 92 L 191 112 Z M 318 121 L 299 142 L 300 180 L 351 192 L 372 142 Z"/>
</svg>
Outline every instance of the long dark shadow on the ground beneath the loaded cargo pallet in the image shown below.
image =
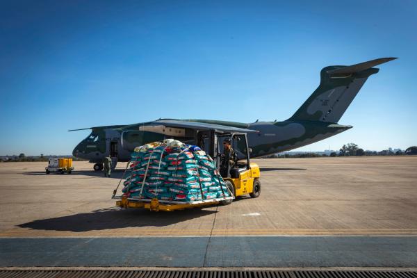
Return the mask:
<svg viewBox="0 0 417 278">
<path fill-rule="evenodd" d="M 105 229 L 120 229 L 134 227 L 165 227 L 194 218 L 201 218 L 216 213 L 216 211 L 202 208 L 186 209 L 169 213 L 156 213 L 143 208 L 122 209 L 104 208 L 90 213 L 78 213 L 74 215 L 61 216 L 34 220 L 17 225 L 21 228 L 46 231 L 97 231 Z"/>
</svg>

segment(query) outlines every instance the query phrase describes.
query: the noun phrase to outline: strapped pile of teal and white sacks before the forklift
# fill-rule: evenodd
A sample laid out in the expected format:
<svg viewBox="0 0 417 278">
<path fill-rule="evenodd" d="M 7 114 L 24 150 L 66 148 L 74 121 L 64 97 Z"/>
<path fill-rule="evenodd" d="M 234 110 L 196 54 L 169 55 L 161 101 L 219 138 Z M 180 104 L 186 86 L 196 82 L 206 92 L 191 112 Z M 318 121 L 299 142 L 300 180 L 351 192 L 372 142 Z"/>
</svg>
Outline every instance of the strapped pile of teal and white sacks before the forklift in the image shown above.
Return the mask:
<svg viewBox="0 0 417 278">
<path fill-rule="evenodd" d="M 231 196 L 210 156 L 172 139 L 135 149 L 122 192 L 127 198 L 175 202 Z"/>
</svg>

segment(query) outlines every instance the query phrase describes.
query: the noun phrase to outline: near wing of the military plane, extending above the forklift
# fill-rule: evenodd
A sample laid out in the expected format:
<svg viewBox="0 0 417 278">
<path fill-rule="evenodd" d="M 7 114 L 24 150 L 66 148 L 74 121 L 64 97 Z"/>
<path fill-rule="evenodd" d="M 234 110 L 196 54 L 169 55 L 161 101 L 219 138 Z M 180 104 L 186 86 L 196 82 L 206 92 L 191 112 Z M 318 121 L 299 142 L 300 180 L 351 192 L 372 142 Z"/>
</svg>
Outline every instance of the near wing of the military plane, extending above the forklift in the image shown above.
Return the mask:
<svg viewBox="0 0 417 278">
<path fill-rule="evenodd" d="M 252 129 L 240 129 L 234 126 L 224 126 L 221 124 L 208 124 L 205 122 L 187 122 L 180 120 L 157 120 L 152 122 L 152 125 L 161 125 L 167 127 L 176 127 L 176 128 L 185 128 L 185 129 L 195 129 L 199 131 L 214 129 L 215 131 L 222 132 L 241 132 L 241 133 L 254 133 L 259 132 Z"/>
</svg>

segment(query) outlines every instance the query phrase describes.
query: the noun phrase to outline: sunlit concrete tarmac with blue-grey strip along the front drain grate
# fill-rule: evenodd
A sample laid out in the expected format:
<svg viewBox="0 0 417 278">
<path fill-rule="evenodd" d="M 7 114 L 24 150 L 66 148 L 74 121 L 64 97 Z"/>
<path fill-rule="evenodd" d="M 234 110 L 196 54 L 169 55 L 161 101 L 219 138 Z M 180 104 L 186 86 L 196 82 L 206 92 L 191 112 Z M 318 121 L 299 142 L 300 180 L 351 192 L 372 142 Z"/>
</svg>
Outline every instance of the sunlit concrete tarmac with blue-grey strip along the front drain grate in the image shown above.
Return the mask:
<svg viewBox="0 0 417 278">
<path fill-rule="evenodd" d="M 0 267 L 417 266 L 417 156 L 253 161 L 259 198 L 170 213 L 115 207 L 126 163 L 0 163 Z"/>
</svg>

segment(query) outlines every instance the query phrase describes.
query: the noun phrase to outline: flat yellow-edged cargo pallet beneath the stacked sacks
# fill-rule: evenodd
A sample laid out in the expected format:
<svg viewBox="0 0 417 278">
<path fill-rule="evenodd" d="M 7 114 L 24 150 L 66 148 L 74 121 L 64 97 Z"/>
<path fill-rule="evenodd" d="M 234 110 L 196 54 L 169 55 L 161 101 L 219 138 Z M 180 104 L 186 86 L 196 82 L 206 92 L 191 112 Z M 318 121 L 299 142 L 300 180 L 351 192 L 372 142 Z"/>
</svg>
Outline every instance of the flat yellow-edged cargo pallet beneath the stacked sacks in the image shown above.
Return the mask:
<svg viewBox="0 0 417 278">
<path fill-rule="evenodd" d="M 177 202 L 170 200 L 159 200 L 159 199 L 139 199 L 139 198 L 126 198 L 122 196 L 114 196 L 113 199 L 116 201 L 116 206 L 122 208 L 147 208 L 149 211 L 179 211 L 185 208 L 197 208 L 202 206 L 211 206 L 219 204 L 222 201 L 234 199 L 231 197 L 222 197 L 215 199 L 204 199 L 193 202 Z"/>
</svg>

